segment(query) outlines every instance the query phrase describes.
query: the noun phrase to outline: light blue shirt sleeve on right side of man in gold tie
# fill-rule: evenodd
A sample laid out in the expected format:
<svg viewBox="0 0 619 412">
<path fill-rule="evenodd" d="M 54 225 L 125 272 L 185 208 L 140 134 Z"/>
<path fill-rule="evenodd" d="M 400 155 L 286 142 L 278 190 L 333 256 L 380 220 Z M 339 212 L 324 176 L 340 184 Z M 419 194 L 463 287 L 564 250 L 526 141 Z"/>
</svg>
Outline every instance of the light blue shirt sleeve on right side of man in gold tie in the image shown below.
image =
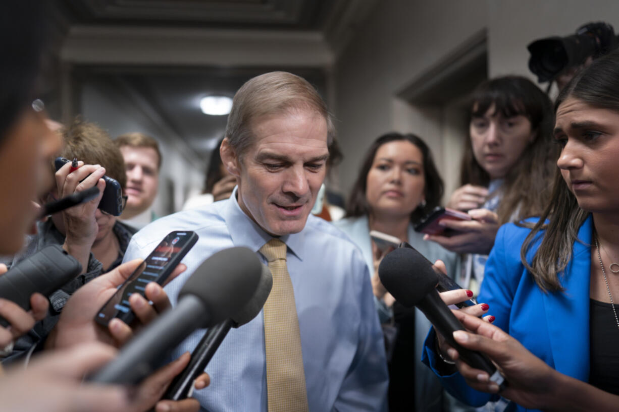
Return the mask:
<svg viewBox="0 0 619 412">
<path fill-rule="evenodd" d="M 368 267 L 361 257 L 358 262 L 353 268 L 353 273 L 362 273 L 357 290 L 360 304 L 357 351 L 340 387 L 334 410 L 386 411 L 389 374 L 383 331 L 376 315 Z"/>
</svg>

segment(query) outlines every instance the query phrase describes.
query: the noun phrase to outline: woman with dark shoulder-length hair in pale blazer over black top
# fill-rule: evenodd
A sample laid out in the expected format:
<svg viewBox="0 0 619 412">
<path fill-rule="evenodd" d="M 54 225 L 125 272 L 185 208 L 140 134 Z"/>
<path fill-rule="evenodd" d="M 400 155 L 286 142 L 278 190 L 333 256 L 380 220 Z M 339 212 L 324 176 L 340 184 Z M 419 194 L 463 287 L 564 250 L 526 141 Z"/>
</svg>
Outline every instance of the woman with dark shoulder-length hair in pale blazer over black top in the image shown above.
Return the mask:
<svg viewBox="0 0 619 412">
<path fill-rule="evenodd" d="M 413 230 L 413 223 L 438 206 L 442 195 L 443 180 L 425 142 L 413 134 L 387 133 L 378 137 L 366 152 L 349 197 L 347 215 L 335 222 L 363 252 L 381 322 L 388 323 L 393 316 L 392 323 L 397 327 L 389 364 L 391 411 L 440 411 L 443 390 L 436 377 L 418 361 L 430 324 L 415 309 L 394 303 L 381 284 L 376 269 L 384 251 L 374 244 L 370 231 L 409 242 L 432 262 L 443 260 L 449 273 L 454 273 L 457 255 L 424 242 L 422 234 Z M 482 314 L 482 305 L 478 309 Z"/>
</svg>

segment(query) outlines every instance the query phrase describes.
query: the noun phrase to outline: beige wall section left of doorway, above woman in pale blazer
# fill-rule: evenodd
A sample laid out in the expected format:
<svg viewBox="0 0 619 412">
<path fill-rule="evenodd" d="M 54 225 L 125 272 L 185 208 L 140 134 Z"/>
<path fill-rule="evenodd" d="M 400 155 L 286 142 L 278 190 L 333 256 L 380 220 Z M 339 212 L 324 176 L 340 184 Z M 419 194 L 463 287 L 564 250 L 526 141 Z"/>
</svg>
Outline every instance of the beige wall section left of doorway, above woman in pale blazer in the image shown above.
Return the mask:
<svg viewBox="0 0 619 412">
<path fill-rule="evenodd" d="M 354 181 L 360 158 L 387 131 L 426 140 L 442 170 L 439 116 L 411 108 L 396 95 L 486 24 L 485 0 L 381 1 L 336 61 L 335 116 L 345 159 L 342 189 Z"/>
</svg>

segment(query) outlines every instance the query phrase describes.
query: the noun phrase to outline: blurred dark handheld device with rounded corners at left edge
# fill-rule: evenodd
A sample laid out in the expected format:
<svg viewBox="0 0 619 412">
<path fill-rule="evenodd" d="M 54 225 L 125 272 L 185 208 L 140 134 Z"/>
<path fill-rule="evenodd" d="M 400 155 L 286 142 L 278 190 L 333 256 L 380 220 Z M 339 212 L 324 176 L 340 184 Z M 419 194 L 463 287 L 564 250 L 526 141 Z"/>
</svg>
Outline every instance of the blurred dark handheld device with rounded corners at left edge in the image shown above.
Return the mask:
<svg viewBox="0 0 619 412">
<path fill-rule="evenodd" d="M 46 246 L 0 276 L 0 298 L 29 311 L 33 293 L 50 296 L 80 272 L 82 265 L 60 245 Z M 0 316 L 0 325 L 6 327 L 9 322 Z"/>
</svg>

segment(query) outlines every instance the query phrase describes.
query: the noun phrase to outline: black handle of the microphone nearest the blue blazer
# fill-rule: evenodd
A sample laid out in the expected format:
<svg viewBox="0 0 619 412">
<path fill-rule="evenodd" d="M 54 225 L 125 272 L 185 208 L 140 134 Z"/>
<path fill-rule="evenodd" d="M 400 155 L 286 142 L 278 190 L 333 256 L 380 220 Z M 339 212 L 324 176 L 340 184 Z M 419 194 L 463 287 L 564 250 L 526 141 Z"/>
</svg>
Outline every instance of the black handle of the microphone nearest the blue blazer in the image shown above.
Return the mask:
<svg viewBox="0 0 619 412">
<path fill-rule="evenodd" d="M 501 390 L 503 390 L 507 382 L 496 369 L 495 364 L 493 364 L 485 354 L 464 348 L 454 340 L 454 331 L 466 329 L 451 312 L 451 309 L 443 302 L 443 299 L 441 299 L 441 296 L 439 296 L 436 290 L 431 290 L 430 293 L 426 294 L 417 307 L 426 315 L 436 330 L 443 335 L 449 345 L 458 351 L 465 363 L 476 369 L 487 372 L 488 376 L 490 376 L 490 380 L 499 385 Z"/>
</svg>

